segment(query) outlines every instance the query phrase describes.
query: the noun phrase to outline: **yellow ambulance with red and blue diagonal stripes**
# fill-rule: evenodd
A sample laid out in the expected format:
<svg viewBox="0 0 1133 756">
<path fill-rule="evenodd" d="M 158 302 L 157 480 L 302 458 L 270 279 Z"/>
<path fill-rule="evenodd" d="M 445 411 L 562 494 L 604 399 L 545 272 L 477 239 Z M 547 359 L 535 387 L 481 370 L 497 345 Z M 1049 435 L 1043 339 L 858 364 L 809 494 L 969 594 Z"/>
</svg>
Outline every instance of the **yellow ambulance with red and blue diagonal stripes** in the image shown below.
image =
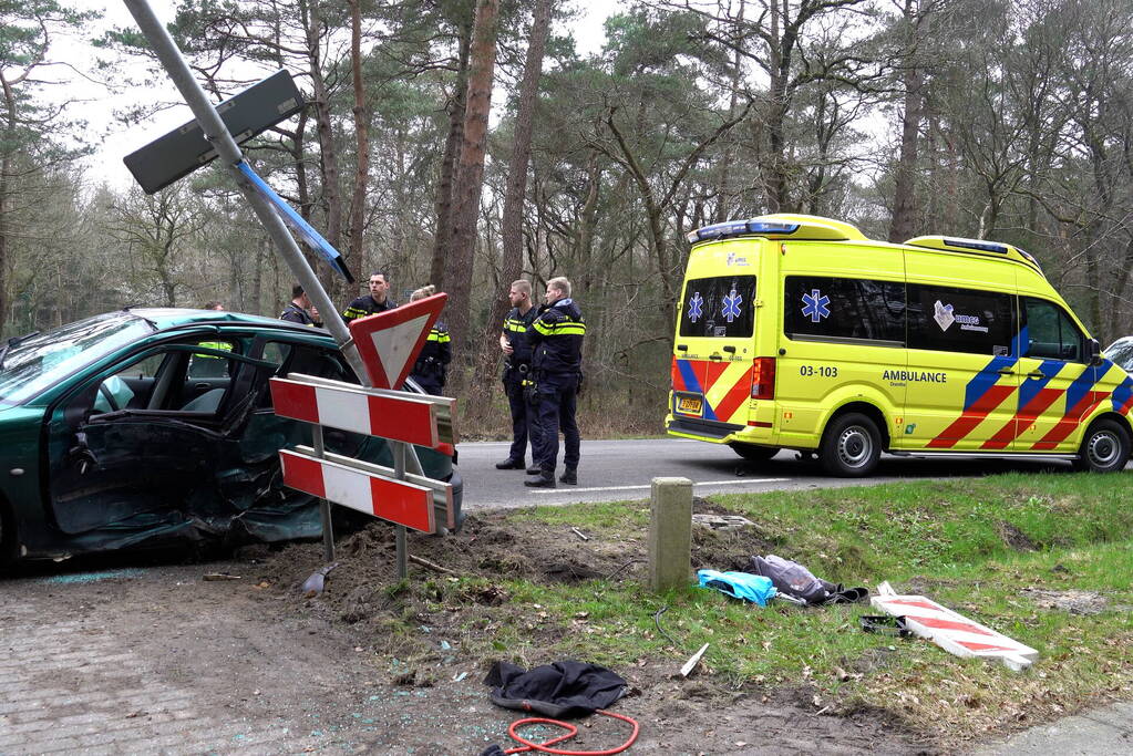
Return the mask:
<svg viewBox="0 0 1133 756">
<path fill-rule="evenodd" d="M 813 453 L 843 476 L 870 474 L 881 452 L 1125 466 L 1133 379 L 1023 250 L 892 244 L 790 214 L 689 241 L 671 436 L 752 461 Z"/>
</svg>

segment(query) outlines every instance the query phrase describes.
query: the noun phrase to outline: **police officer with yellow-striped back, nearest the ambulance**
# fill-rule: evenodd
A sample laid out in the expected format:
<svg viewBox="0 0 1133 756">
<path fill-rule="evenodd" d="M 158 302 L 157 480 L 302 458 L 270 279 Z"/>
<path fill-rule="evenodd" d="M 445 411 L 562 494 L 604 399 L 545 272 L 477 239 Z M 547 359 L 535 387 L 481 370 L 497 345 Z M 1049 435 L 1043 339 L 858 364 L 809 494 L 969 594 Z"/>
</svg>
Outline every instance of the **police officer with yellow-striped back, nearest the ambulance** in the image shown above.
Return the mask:
<svg viewBox="0 0 1133 756">
<path fill-rule="evenodd" d="M 539 308 L 527 335 L 531 342 L 531 369 L 538 397 L 539 433 L 536 461 L 539 473 L 523 481 L 531 488 L 555 487 L 555 459 L 559 456 L 559 428 L 563 430 L 563 483 L 578 483 L 579 436 L 574 422 L 574 402 L 582 377 L 582 337 L 586 324 L 582 311 L 570 297 L 565 277 L 547 282 L 546 304 Z"/>
</svg>

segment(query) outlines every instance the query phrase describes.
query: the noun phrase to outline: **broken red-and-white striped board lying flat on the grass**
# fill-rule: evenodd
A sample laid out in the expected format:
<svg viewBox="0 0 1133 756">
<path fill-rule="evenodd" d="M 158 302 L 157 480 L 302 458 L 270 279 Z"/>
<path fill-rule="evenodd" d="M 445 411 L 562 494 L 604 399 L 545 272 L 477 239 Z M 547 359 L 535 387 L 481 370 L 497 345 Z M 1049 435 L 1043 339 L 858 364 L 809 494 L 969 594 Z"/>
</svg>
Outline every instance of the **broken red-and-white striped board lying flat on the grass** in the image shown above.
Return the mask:
<svg viewBox="0 0 1133 756">
<path fill-rule="evenodd" d="M 888 583 L 877 586 L 870 603 L 894 617 L 904 617 L 906 627 L 957 656 L 1000 660 L 1016 672 L 1030 667 L 1039 652 L 996 633 L 977 621 L 920 595 L 897 595 Z"/>
</svg>

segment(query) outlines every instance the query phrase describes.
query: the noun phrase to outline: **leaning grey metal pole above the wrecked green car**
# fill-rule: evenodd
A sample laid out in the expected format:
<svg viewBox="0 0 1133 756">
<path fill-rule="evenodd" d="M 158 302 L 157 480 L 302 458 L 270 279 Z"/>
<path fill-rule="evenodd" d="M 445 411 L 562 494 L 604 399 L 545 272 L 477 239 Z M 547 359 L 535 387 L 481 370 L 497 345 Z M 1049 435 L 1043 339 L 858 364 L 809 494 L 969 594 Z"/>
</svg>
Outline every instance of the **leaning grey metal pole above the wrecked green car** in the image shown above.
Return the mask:
<svg viewBox="0 0 1133 756">
<path fill-rule="evenodd" d="M 181 51 L 178 50 L 177 43 L 173 42 L 169 32 L 165 31 L 165 27 L 154 16 L 153 9 L 150 8 L 150 3 L 146 0 L 122 0 L 122 2 L 130 11 L 130 15 L 134 16 L 134 20 L 137 22 L 142 34 L 148 40 L 150 45 L 157 55 L 157 60 L 161 61 L 162 68 L 169 74 L 169 78 L 172 79 L 173 85 L 193 110 L 193 115 L 196 118 L 197 123 L 201 124 L 205 138 L 216 149 L 216 155 L 224 163 L 229 173 L 232 174 L 248 204 L 252 205 L 252 209 L 255 211 L 256 217 L 259 218 L 267 233 L 271 234 L 272 241 L 275 242 L 276 249 L 283 256 L 288 267 L 291 268 L 296 281 L 303 286 L 304 292 L 307 293 L 310 301 L 318 308 L 318 311 L 323 313 L 325 318 L 323 324 L 331 332 L 331 335 L 334 336 L 334 341 L 338 342 L 342 355 L 350 363 L 350 367 L 363 385 L 372 386 L 369 373 L 366 372 L 361 358 L 358 355 L 358 350 L 350 338 L 350 332 L 347 329 L 346 323 L 341 318 L 335 317 L 338 310 L 334 303 L 331 302 L 331 298 L 323 289 L 322 283 L 315 276 L 315 272 L 307 264 L 307 258 L 303 256 L 299 246 L 287 230 L 287 226 L 283 225 L 283 221 L 276 215 L 275 209 L 249 186 L 248 179 L 237 167 L 244 160 L 244 153 L 240 152 L 236 139 L 232 138 L 224 122 L 216 114 L 216 109 L 208 102 L 204 89 L 193 78 L 193 71 L 189 70 L 188 63 L 181 57 Z"/>
</svg>

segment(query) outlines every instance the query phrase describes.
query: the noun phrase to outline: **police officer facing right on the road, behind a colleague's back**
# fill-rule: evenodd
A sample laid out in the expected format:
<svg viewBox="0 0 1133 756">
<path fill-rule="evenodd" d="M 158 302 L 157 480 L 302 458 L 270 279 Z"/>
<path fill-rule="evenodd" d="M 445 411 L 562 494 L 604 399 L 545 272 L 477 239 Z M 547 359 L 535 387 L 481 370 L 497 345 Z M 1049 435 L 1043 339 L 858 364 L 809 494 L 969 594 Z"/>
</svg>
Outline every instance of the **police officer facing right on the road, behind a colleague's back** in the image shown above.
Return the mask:
<svg viewBox="0 0 1133 756">
<path fill-rule="evenodd" d="M 503 318 L 500 350 L 504 353 L 503 392 L 511 410 L 511 452 L 506 459 L 496 463 L 496 470 L 523 470 L 523 457 L 530 440 L 533 463 L 527 472 L 534 475 L 540 470 L 534 462 L 539 422 L 537 409 L 527 397 L 528 387 L 534 386 L 530 380 L 531 344 L 527 340 L 527 329 L 539 312 L 531 302 L 531 284 L 526 281 L 512 282 L 508 300 L 511 302 L 511 310 Z"/>
</svg>

